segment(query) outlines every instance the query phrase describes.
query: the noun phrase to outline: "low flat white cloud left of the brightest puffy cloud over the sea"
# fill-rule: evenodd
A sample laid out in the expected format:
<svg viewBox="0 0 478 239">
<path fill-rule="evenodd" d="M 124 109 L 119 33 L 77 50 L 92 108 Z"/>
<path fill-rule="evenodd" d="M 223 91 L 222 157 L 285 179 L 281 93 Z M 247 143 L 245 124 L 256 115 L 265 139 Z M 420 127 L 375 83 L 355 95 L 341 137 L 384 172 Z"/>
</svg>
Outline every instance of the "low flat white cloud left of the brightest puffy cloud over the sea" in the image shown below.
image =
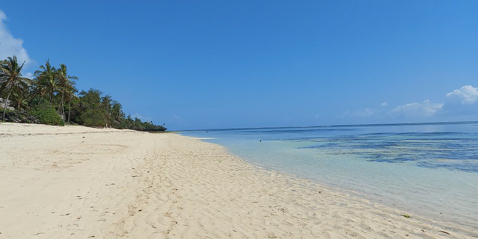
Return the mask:
<svg viewBox="0 0 478 239">
<path fill-rule="evenodd" d="M 408 117 L 433 116 L 441 110 L 442 107 L 443 104 L 441 103 L 431 103 L 430 100 L 425 100 L 422 103 L 409 103 L 395 107 L 395 109 L 389 111 L 388 114 Z"/>
</svg>

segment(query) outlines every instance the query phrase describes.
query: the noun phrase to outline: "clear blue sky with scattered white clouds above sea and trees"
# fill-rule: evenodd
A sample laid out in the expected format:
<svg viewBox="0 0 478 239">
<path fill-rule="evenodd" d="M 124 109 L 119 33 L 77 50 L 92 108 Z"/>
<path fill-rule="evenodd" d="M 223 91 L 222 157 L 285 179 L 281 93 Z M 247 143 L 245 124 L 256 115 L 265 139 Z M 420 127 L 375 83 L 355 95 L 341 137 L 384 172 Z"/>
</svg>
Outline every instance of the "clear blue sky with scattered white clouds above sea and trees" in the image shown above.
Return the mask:
<svg viewBox="0 0 478 239">
<path fill-rule="evenodd" d="M 478 1 L 2 1 L 49 59 L 171 130 L 478 120 Z"/>
</svg>

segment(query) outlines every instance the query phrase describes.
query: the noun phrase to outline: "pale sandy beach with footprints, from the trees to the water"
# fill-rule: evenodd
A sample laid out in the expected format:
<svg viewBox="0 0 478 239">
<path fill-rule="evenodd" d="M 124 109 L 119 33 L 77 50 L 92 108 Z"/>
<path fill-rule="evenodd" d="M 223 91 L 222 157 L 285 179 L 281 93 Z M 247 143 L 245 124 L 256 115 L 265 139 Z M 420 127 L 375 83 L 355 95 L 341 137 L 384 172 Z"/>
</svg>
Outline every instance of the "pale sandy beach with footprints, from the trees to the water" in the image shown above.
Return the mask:
<svg viewBox="0 0 478 239">
<path fill-rule="evenodd" d="M 0 145 L 0 238 L 478 236 L 178 134 L 2 123 Z"/>
</svg>

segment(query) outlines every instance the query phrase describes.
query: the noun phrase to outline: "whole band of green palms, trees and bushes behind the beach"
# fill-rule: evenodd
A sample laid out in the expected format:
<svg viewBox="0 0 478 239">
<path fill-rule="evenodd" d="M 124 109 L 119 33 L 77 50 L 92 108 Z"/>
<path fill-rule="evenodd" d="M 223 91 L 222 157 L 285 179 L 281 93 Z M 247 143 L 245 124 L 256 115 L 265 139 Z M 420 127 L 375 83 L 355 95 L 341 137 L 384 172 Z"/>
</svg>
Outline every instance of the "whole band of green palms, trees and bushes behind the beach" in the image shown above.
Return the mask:
<svg viewBox="0 0 478 239">
<path fill-rule="evenodd" d="M 78 93 L 78 77 L 70 75 L 65 64 L 55 68 L 47 60 L 29 79 L 21 73 L 24 63 L 20 65 L 16 56 L 0 61 L 0 98 L 5 99 L 0 110 L 2 121 L 166 130 L 164 124 L 125 117 L 121 104 L 99 90 Z"/>
</svg>

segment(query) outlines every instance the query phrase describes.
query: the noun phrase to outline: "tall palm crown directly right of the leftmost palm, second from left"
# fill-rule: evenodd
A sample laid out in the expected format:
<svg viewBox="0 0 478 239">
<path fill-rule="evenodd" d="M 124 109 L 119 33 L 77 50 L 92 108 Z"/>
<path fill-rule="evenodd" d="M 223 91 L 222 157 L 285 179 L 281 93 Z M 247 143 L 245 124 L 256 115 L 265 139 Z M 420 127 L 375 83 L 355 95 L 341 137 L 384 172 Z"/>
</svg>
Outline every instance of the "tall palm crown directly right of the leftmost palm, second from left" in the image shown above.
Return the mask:
<svg viewBox="0 0 478 239">
<path fill-rule="evenodd" d="M 54 93 L 58 90 L 56 85 L 56 69 L 50 65 L 50 60 L 46 60 L 45 65 L 40 65 L 40 70 L 35 70 L 35 89 L 34 95 L 44 97 L 48 94 L 50 105 L 53 102 Z"/>
</svg>

